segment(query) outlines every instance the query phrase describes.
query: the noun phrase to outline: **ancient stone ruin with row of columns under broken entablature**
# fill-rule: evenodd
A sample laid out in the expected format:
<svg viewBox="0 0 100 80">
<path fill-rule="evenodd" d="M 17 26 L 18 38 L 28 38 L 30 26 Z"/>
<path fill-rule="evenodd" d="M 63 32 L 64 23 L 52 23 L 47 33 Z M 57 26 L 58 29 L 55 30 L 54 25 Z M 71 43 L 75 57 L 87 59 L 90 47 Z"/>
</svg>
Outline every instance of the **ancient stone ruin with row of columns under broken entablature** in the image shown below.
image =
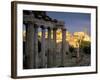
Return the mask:
<svg viewBox="0 0 100 80">
<path fill-rule="evenodd" d="M 64 66 L 65 55 L 65 40 L 66 29 L 64 28 L 64 22 L 52 19 L 46 15 L 44 11 L 23 11 L 23 24 L 26 26 L 26 41 L 25 41 L 25 64 L 26 68 L 45 68 L 56 67 L 56 31 L 62 29 L 62 52 L 61 52 L 61 65 Z M 38 54 L 38 28 L 42 30 L 41 38 L 41 55 L 39 63 Z M 45 31 L 48 31 L 48 53 L 47 53 L 47 65 L 45 62 Z M 53 30 L 53 47 L 51 46 L 51 30 Z M 52 49 L 53 54 L 52 54 Z M 41 64 L 41 65 L 39 65 Z"/>
</svg>

